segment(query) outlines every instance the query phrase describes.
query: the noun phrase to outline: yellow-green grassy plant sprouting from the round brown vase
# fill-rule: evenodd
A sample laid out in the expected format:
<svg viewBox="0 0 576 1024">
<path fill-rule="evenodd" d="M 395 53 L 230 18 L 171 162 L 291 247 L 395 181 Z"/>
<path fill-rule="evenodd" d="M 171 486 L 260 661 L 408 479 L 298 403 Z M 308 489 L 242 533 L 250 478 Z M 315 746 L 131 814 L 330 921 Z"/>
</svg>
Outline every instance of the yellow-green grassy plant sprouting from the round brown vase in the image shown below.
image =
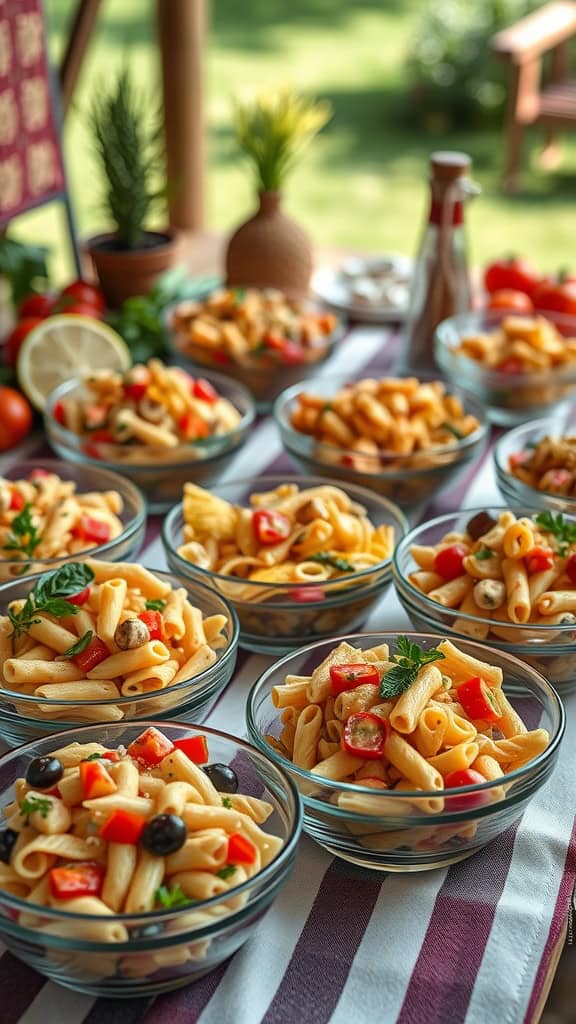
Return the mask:
<svg viewBox="0 0 576 1024">
<path fill-rule="evenodd" d="M 302 152 L 332 116 L 330 103 L 291 89 L 234 104 L 236 138 L 252 164 L 258 191 L 278 191 Z"/>
</svg>

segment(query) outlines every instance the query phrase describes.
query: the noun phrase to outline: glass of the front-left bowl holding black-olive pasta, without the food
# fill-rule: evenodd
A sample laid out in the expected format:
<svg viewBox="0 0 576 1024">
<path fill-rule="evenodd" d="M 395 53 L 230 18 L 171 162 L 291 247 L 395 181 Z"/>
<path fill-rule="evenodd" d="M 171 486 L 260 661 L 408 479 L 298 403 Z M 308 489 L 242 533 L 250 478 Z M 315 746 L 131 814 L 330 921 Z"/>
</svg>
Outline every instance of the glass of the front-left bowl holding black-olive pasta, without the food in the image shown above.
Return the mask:
<svg viewBox="0 0 576 1024">
<path fill-rule="evenodd" d="M 107 746 L 128 744 L 157 724 L 170 739 L 191 735 L 186 725 L 147 721 L 137 724 L 92 725 L 74 739 Z M 232 765 L 241 776 L 242 792 L 264 798 L 274 807 L 265 830 L 283 840 L 268 866 L 234 890 L 190 905 L 140 914 L 111 914 L 107 925 L 117 930 L 115 941 L 97 934 L 102 918 L 38 907 L 0 890 L 0 938 L 29 967 L 67 988 L 93 995 L 133 998 L 188 985 L 228 959 L 248 939 L 288 879 L 301 826 L 301 806 L 292 779 L 269 758 L 235 736 L 202 729 L 210 761 Z M 14 799 L 14 781 L 29 762 L 66 745 L 69 733 L 37 739 L 0 760 L 0 801 Z M 0 827 L 5 824 L 0 813 Z M 27 912 L 32 923 L 23 923 Z M 90 934 L 91 933 L 91 934 Z"/>
</svg>

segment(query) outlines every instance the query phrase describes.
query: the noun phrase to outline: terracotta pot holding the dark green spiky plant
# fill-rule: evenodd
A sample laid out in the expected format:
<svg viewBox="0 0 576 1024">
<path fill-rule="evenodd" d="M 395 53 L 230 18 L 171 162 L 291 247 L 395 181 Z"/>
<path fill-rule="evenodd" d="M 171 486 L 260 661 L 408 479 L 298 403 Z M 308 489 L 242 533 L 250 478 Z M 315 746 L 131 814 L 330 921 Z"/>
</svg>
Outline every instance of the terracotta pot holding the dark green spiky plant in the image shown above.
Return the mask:
<svg viewBox="0 0 576 1024">
<path fill-rule="evenodd" d="M 142 249 L 118 249 L 116 236 L 97 234 L 85 248 L 111 307 L 133 295 L 146 295 L 157 278 L 178 259 L 179 240 L 173 231 L 147 231 Z"/>
</svg>

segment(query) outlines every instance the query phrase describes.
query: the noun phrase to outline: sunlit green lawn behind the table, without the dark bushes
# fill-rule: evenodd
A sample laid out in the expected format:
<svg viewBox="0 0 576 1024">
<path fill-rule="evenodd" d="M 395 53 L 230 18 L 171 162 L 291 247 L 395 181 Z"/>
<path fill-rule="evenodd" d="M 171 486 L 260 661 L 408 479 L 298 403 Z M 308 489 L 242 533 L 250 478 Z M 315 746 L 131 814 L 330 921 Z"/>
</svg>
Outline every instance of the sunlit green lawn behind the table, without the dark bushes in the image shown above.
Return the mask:
<svg viewBox="0 0 576 1024">
<path fill-rule="evenodd" d="M 476 0 L 482 2 L 482 0 Z M 230 98 L 289 82 L 328 97 L 331 124 L 293 175 L 288 210 L 318 244 L 412 253 L 426 196 L 426 160 L 434 148 L 460 148 L 474 159 L 483 195 L 469 211 L 471 259 L 529 253 L 544 269 L 574 258 L 573 193 L 576 136 L 564 142 L 560 171 L 537 168 L 538 136 L 526 146 L 523 190 L 498 193 L 501 133 L 430 136 L 404 127 L 399 110 L 404 57 L 424 0 L 213 0 L 206 52 L 209 130 L 207 221 L 229 229 L 253 204 L 246 167 L 235 153 Z M 45 0 L 54 54 L 72 0 Z M 151 0 L 107 0 L 75 110 L 66 127 L 66 154 L 81 234 L 102 226 L 98 181 L 85 112 L 98 84 L 128 61 L 151 96 L 158 95 Z M 53 211 L 28 215 L 17 233 L 56 250 L 57 275 L 67 272 L 60 220 Z"/>
</svg>

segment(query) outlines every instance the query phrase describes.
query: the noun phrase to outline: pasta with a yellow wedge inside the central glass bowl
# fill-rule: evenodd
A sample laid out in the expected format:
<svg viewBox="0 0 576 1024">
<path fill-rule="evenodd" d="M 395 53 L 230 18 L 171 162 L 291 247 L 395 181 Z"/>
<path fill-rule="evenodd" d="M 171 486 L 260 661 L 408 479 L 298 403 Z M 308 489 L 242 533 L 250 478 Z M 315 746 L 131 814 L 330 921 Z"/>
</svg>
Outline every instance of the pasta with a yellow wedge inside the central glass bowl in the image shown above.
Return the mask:
<svg viewBox="0 0 576 1024">
<path fill-rule="evenodd" d="M 233 505 L 187 483 L 178 554 L 221 575 L 274 586 L 344 579 L 393 553 L 394 527 L 374 525 L 340 487 L 300 490 L 286 483 L 249 501 L 250 508 Z M 247 600 L 262 599 L 259 590 L 250 591 Z M 234 594 L 241 596 L 238 587 Z"/>
</svg>

